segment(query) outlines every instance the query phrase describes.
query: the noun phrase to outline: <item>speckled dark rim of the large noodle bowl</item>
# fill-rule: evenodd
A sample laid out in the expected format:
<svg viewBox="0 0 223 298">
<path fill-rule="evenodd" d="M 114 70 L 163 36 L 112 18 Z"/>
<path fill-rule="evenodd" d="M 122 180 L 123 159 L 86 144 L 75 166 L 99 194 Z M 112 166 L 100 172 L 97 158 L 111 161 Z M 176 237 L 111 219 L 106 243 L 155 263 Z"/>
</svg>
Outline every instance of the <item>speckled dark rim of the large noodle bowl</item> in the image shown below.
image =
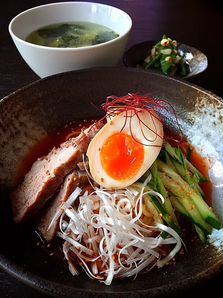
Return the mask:
<svg viewBox="0 0 223 298">
<path fill-rule="evenodd" d="M 56 75 L 52 75 L 40 80 L 37 80 L 27 86 L 24 86 L 11 94 L 7 95 L 3 99 L 0 100 L 0 106 L 3 102 L 7 100 L 11 100 L 13 96 L 16 96 L 17 94 L 20 94 L 21 92 L 32 88 L 34 85 L 38 85 L 39 83 L 42 83 L 44 81 L 48 80 L 54 80 L 57 77 L 62 77 L 62 76 L 67 76 L 69 73 L 74 74 L 74 73 L 80 73 L 80 72 L 87 72 L 87 71 L 94 71 L 94 70 L 113 70 L 117 68 L 114 67 L 94 67 L 94 68 L 88 68 L 88 69 L 82 69 L 82 70 L 76 70 L 76 71 L 69 71 L 69 72 L 64 72 Z M 134 68 L 119 68 L 120 71 L 127 71 L 127 72 L 141 72 L 140 69 L 134 69 Z M 174 77 L 170 77 L 168 75 L 154 72 L 151 70 L 148 70 L 147 72 L 151 73 L 154 76 L 159 76 L 159 77 L 166 77 L 169 80 L 174 80 L 174 81 L 179 81 L 181 84 L 188 85 L 191 88 L 197 89 L 202 91 L 203 93 L 209 94 L 210 96 L 214 97 L 216 100 L 220 101 L 223 103 L 223 100 L 218 97 L 216 94 L 213 94 L 210 91 L 207 91 L 203 89 L 202 87 L 198 87 L 197 85 L 194 85 L 190 82 L 187 82 L 182 79 L 176 79 Z M 161 287 L 154 287 L 146 290 L 136 290 L 136 291 L 125 291 L 125 292 L 102 292 L 102 291 L 89 291 L 89 290 L 84 290 L 84 289 L 78 289 L 74 287 L 69 287 L 65 285 L 58 284 L 56 282 L 51 282 L 47 279 L 38 277 L 37 275 L 30 273 L 29 271 L 24 270 L 23 268 L 17 266 L 13 262 L 9 261 L 4 255 L 0 255 L 0 268 L 5 270 L 7 273 L 10 273 L 12 276 L 16 277 L 18 280 L 21 282 L 27 284 L 30 287 L 33 287 L 34 289 L 41 291 L 45 294 L 55 296 L 55 297 L 73 297 L 74 295 L 78 294 L 79 298 L 82 297 L 87 297 L 88 294 L 93 296 L 96 294 L 97 297 L 120 297 L 120 294 L 126 294 L 129 297 L 158 297 L 163 294 L 170 294 L 174 293 L 176 291 L 181 291 L 184 289 L 189 289 L 190 287 L 193 287 L 196 284 L 201 284 L 205 282 L 206 280 L 215 277 L 218 273 L 223 272 L 223 259 L 220 259 L 217 261 L 216 264 L 212 265 L 211 267 L 207 268 L 206 270 L 197 273 L 194 276 L 190 276 L 186 278 L 185 280 L 181 280 L 179 282 L 173 282 L 171 284 L 163 285 Z"/>
</svg>

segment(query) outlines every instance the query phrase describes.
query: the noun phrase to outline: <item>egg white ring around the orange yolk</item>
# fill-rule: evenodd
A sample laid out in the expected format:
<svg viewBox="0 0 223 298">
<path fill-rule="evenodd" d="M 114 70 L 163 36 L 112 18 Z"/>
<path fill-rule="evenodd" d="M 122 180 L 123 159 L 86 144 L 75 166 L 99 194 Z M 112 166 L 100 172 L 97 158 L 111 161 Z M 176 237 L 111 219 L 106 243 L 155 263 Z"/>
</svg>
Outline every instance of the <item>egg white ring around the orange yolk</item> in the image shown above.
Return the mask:
<svg viewBox="0 0 223 298">
<path fill-rule="evenodd" d="M 131 113 L 133 115 L 132 117 L 130 117 Z M 149 169 L 160 152 L 161 146 L 163 144 L 163 125 L 157 119 L 157 114 L 151 112 L 149 113 L 148 111 L 140 111 L 139 113 L 137 113 L 137 115 L 141 120 L 141 128 L 134 110 L 127 111 L 127 117 L 126 112 L 122 112 L 117 116 L 112 117 L 112 120 L 109 120 L 108 123 L 106 123 L 105 126 L 101 128 L 101 130 L 95 135 L 88 146 L 87 156 L 89 159 L 89 168 L 91 175 L 99 185 L 105 188 L 120 189 L 131 185 Z M 110 177 L 103 169 L 99 149 L 102 147 L 103 142 L 110 135 L 118 133 L 122 130 L 125 121 L 126 124 L 122 132 L 131 135 L 130 119 L 132 135 L 144 146 L 144 161 L 139 172 L 134 177 L 126 179 L 125 181 L 118 181 Z M 143 123 L 151 130 L 157 131 L 158 135 L 149 130 L 149 128 L 147 128 Z M 148 140 L 145 139 L 143 134 Z M 154 147 L 154 145 L 160 147 Z"/>
</svg>

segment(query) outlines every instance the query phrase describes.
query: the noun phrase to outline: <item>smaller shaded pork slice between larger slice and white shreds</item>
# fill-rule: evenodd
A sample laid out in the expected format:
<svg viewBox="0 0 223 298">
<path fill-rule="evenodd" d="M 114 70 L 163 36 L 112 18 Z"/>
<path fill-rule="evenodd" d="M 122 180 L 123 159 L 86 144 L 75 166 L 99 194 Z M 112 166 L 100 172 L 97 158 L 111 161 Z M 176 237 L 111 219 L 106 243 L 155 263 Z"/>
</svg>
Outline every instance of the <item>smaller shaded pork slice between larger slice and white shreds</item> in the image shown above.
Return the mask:
<svg viewBox="0 0 223 298">
<path fill-rule="evenodd" d="M 37 227 L 42 233 L 42 236 L 47 241 L 51 241 L 56 235 L 56 232 L 60 229 L 59 217 L 49 231 L 47 231 L 54 215 L 60 209 L 61 204 L 69 198 L 76 187 L 78 187 L 79 183 L 83 185 L 87 181 L 87 175 L 85 172 L 74 170 L 74 172 L 67 174 L 64 177 L 62 184 L 63 187 L 61 188 L 61 186 L 59 186 L 53 197 L 48 199 L 46 204 L 36 213 L 35 222 L 37 223 Z"/>
</svg>

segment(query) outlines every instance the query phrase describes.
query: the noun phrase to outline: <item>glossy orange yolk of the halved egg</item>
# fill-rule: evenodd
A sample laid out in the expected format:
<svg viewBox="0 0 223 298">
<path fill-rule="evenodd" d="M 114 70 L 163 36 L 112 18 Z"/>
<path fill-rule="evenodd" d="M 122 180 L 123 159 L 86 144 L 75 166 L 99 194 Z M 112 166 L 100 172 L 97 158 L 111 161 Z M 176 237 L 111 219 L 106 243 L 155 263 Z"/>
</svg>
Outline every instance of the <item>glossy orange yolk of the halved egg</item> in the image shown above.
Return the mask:
<svg viewBox="0 0 223 298">
<path fill-rule="evenodd" d="M 102 144 L 100 159 L 109 177 L 125 181 L 133 178 L 142 167 L 144 146 L 126 133 L 110 135 Z"/>
</svg>

